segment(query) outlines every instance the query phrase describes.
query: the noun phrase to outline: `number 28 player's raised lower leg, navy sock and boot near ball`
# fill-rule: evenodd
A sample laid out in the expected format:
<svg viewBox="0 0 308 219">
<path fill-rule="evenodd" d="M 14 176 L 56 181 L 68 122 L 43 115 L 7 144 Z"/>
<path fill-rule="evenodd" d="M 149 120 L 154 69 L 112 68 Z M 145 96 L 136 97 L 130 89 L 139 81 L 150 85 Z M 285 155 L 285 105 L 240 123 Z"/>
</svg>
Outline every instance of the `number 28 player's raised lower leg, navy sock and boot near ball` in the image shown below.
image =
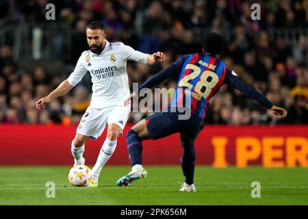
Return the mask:
<svg viewBox="0 0 308 219">
<path fill-rule="evenodd" d="M 145 123 L 144 123 L 145 124 Z M 136 179 L 146 178 L 146 170 L 142 167 L 142 143 L 138 133 L 133 129 L 127 132 L 126 142 L 131 160 L 131 172 L 116 181 L 116 185 L 124 187 L 131 185 Z"/>
</svg>

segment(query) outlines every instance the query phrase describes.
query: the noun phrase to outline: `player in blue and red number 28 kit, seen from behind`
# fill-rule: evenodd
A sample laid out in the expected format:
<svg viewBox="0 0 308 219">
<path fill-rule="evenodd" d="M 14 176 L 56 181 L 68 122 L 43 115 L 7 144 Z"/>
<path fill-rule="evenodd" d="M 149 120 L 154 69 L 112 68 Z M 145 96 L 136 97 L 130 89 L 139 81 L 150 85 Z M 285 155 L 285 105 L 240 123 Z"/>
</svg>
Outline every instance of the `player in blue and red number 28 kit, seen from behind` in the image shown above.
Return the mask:
<svg viewBox="0 0 308 219">
<path fill-rule="evenodd" d="M 133 92 L 126 99 L 125 104 L 136 96 L 142 88 L 153 88 L 165 79 L 179 75 L 175 98 L 164 112 L 155 113 L 141 120 L 127 132 L 127 146 L 131 160 L 131 172 L 118 179 L 118 186 L 130 185 L 136 179 L 146 177 L 146 170 L 142 167 L 142 140 L 164 138 L 173 133 L 180 133 L 183 154 L 181 166 L 185 181 L 181 185 L 181 192 L 196 192 L 194 186 L 194 165 L 196 154 L 194 141 L 205 125 L 205 116 L 209 99 L 227 84 L 240 90 L 249 98 L 268 107 L 278 118 L 285 118 L 287 111 L 273 105 L 255 88 L 248 86 L 236 73 L 228 69 L 218 57 L 222 54 L 224 40 L 218 34 L 203 36 L 203 54 L 194 53 L 181 56 L 166 70 L 157 73 Z M 183 108 L 190 110 L 189 118 L 184 118 Z M 172 110 L 176 108 L 176 110 Z M 186 113 L 186 112 L 185 112 Z"/>
</svg>

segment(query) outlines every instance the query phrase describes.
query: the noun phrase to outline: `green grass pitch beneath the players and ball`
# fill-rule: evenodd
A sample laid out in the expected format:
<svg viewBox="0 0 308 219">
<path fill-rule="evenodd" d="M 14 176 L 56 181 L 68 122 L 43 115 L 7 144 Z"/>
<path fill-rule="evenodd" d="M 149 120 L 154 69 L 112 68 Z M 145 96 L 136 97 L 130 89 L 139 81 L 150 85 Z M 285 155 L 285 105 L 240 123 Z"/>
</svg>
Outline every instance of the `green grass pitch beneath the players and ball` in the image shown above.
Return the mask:
<svg viewBox="0 0 308 219">
<path fill-rule="evenodd" d="M 0 167 L 0 205 L 308 205 L 307 168 L 211 168 L 196 166 L 197 192 L 179 192 L 181 166 L 144 166 L 146 179 L 118 188 L 129 166 L 105 166 L 99 188 L 73 188 L 69 166 Z M 55 198 L 46 198 L 47 181 Z M 252 198 L 251 183 L 261 184 Z"/>
</svg>

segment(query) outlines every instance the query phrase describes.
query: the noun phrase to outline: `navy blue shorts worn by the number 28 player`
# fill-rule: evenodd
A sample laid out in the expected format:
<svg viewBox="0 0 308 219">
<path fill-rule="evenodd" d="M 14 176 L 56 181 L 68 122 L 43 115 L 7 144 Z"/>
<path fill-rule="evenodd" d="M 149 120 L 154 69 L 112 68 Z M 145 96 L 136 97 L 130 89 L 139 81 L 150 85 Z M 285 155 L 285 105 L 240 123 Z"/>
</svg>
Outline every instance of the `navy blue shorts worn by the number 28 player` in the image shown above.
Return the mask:
<svg viewBox="0 0 308 219">
<path fill-rule="evenodd" d="M 159 112 L 145 118 L 146 127 L 154 140 L 170 136 L 173 133 L 185 133 L 196 138 L 204 127 L 204 121 L 192 114 L 188 120 L 179 120 L 177 112 Z"/>
</svg>

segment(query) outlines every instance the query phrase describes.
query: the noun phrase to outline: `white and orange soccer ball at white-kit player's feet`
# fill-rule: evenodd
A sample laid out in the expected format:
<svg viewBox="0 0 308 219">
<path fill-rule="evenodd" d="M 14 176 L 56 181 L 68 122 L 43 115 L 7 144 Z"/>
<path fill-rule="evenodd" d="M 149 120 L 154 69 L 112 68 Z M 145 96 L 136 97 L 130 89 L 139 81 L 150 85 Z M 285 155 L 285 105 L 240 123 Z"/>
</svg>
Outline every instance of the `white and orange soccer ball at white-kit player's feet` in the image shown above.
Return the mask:
<svg viewBox="0 0 308 219">
<path fill-rule="evenodd" d="M 68 180 L 73 186 L 86 187 L 90 184 L 91 179 L 91 169 L 86 165 L 77 164 L 68 173 Z"/>
</svg>

